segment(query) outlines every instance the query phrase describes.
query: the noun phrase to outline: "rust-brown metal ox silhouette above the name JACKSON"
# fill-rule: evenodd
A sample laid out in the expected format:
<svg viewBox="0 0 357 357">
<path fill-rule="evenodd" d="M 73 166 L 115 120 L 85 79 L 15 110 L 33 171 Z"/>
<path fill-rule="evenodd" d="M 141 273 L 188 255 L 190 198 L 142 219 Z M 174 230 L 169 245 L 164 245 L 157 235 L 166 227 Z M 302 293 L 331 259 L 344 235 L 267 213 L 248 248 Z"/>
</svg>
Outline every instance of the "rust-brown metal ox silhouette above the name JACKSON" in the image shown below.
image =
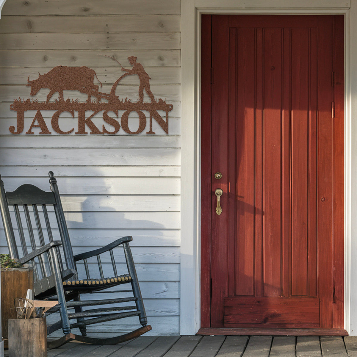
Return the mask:
<svg viewBox="0 0 357 357">
<path fill-rule="evenodd" d="M 64 101 L 64 90 L 77 90 L 87 94 L 87 101 L 90 102 L 92 95 L 100 100 L 100 96 L 96 95 L 99 86 L 94 84 L 94 76 L 102 87 L 95 71 L 89 67 L 56 66 L 44 75 L 40 75 L 39 73 L 39 77 L 33 81 L 30 81 L 29 76 L 27 78 L 29 84 L 26 84 L 26 86 L 31 87 L 31 95 L 36 95 L 42 88 L 48 88 L 50 92 L 47 95 L 46 103 L 49 102 L 56 92 L 60 95 L 60 101 Z"/>
</svg>

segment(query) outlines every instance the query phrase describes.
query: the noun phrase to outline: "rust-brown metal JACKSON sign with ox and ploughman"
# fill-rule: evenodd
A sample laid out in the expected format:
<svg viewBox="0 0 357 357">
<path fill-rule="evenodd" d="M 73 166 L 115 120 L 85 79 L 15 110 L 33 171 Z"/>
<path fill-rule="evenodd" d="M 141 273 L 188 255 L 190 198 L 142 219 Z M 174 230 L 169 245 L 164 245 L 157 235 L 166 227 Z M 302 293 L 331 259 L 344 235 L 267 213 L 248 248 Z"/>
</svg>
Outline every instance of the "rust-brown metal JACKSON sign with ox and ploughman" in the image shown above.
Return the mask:
<svg viewBox="0 0 357 357">
<path fill-rule="evenodd" d="M 109 56 L 108 56 L 109 57 Z M 111 57 L 112 58 L 112 57 Z M 144 67 L 136 62 L 135 56 L 128 57 L 129 63 L 132 65 L 131 69 L 125 69 L 121 66 L 121 70 L 125 73 L 115 81 L 109 94 L 99 91 L 99 86 L 94 84 L 95 78 L 99 81 L 94 70 L 89 67 L 66 67 L 56 66 L 44 75 L 40 75 L 35 80 L 30 81 L 30 76 L 27 78 L 27 86 L 31 88 L 31 96 L 35 96 L 40 89 L 49 89 L 46 102 L 39 102 L 38 99 L 15 99 L 11 104 L 10 109 L 17 112 L 17 127 L 10 126 L 11 134 L 21 134 L 24 131 L 24 112 L 27 110 L 36 110 L 36 114 L 29 128 L 26 128 L 26 134 L 34 134 L 33 128 L 40 128 L 39 134 L 51 134 L 49 130 L 49 123 L 46 124 L 41 110 L 52 110 L 55 113 L 51 118 L 51 127 L 58 134 L 116 134 L 120 127 L 128 134 L 139 134 L 144 131 L 147 124 L 147 117 L 144 111 L 149 112 L 150 130 L 146 134 L 155 134 L 152 131 L 152 119 L 160 125 L 166 134 L 169 134 L 169 111 L 172 110 L 172 104 L 166 104 L 166 100 L 161 98 L 155 99 L 150 90 L 150 77 L 145 72 Z M 119 63 L 119 62 L 118 62 Z M 120 63 L 119 63 L 120 64 Z M 120 64 L 121 65 L 121 64 Z M 139 76 L 139 100 L 132 101 L 131 99 L 119 99 L 115 95 L 116 87 L 120 80 L 127 75 Z M 99 81 L 100 82 L 100 81 Z M 102 87 L 102 84 L 100 83 Z M 144 102 L 144 89 L 146 94 L 150 97 L 151 102 Z M 86 102 L 79 102 L 77 99 L 64 99 L 63 91 L 73 90 L 79 91 L 88 96 Z M 52 96 L 58 92 L 59 99 L 50 102 Z M 95 101 L 91 101 L 91 97 L 95 97 Z M 166 120 L 157 112 L 162 110 L 166 113 Z M 93 111 L 90 116 L 86 117 L 86 111 Z M 121 114 L 119 111 L 124 111 Z M 78 125 L 72 129 L 67 130 L 61 127 L 60 114 L 69 112 L 72 118 L 78 118 Z M 75 115 L 77 112 L 77 115 Z M 97 127 L 91 120 L 96 114 L 103 112 L 102 119 L 110 128 L 102 125 Z M 108 113 L 114 113 L 115 117 L 109 116 Z M 139 116 L 139 127 L 136 131 L 129 129 L 129 114 L 137 113 Z M 119 120 L 119 114 L 121 114 Z M 108 130 L 109 129 L 109 130 Z"/>
</svg>

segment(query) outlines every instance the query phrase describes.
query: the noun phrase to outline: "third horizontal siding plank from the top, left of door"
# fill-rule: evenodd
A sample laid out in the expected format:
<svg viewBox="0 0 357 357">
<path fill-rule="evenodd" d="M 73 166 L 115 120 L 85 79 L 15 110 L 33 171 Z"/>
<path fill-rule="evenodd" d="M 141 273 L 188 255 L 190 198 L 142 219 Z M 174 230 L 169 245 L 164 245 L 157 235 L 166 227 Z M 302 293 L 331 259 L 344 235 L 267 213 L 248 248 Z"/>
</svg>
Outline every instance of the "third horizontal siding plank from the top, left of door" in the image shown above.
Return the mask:
<svg viewBox="0 0 357 357">
<path fill-rule="evenodd" d="M 2 34 L 0 46 L 3 50 L 176 50 L 180 33 Z"/>
</svg>

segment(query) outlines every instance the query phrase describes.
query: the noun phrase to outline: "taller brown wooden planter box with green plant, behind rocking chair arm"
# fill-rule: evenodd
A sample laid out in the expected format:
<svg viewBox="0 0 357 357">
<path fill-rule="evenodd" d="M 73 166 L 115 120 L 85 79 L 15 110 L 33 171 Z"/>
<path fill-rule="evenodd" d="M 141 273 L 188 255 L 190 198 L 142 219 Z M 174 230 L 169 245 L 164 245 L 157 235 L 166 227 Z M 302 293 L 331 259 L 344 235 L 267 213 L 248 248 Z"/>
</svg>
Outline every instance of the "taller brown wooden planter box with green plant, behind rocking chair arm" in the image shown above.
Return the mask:
<svg viewBox="0 0 357 357">
<path fill-rule="evenodd" d="M 34 288 L 32 268 L 1 269 L 1 330 L 2 337 L 8 338 L 7 320 L 17 318 L 14 306 L 16 297 L 26 297 L 27 289 Z"/>
</svg>

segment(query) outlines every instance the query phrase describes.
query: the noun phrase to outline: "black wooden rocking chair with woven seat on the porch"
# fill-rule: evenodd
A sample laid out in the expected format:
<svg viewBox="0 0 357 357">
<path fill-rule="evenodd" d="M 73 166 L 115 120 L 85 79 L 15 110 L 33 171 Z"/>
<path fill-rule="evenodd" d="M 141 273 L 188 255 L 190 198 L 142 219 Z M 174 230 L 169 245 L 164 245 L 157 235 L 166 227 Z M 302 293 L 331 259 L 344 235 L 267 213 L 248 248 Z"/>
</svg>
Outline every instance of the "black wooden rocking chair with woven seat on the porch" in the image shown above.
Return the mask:
<svg viewBox="0 0 357 357">
<path fill-rule="evenodd" d="M 147 325 L 129 246 L 132 237 L 122 237 L 105 247 L 73 255 L 56 178 L 52 171 L 49 172 L 49 176 L 51 187 L 49 192 L 28 184 L 18 187 L 13 192 L 5 192 L 4 183 L 0 178 L 1 217 L 10 256 L 18 259 L 22 264 L 27 263 L 32 266 L 35 299 L 49 298 L 58 301 L 58 304 L 47 311 L 47 314 L 59 312 L 60 320 L 47 325 L 47 335 L 62 328 L 65 336 L 55 341 L 48 341 L 47 346 L 59 347 L 71 340 L 95 345 L 114 345 L 150 331 L 151 326 Z M 57 237 L 60 240 L 56 240 Z M 123 274 L 117 272 L 115 262 L 114 248 L 120 247 L 124 250 L 127 265 L 127 272 Z M 101 256 L 105 255 L 107 260 L 111 261 L 111 273 L 107 273 L 101 263 Z M 64 262 L 61 256 L 64 256 Z M 100 278 L 92 278 L 90 267 L 94 265 L 93 259 Z M 79 263 L 80 261 L 82 263 Z M 80 270 L 83 270 L 85 277 L 80 276 Z M 130 290 L 120 290 L 115 293 L 130 292 L 131 296 L 107 300 L 81 300 L 80 298 L 82 294 L 91 294 L 128 283 L 131 284 Z M 128 303 L 131 305 L 126 306 Z M 135 331 L 110 338 L 86 336 L 87 325 L 130 316 L 139 316 L 142 326 Z M 76 327 L 79 328 L 81 335 L 71 332 Z"/>
</svg>

